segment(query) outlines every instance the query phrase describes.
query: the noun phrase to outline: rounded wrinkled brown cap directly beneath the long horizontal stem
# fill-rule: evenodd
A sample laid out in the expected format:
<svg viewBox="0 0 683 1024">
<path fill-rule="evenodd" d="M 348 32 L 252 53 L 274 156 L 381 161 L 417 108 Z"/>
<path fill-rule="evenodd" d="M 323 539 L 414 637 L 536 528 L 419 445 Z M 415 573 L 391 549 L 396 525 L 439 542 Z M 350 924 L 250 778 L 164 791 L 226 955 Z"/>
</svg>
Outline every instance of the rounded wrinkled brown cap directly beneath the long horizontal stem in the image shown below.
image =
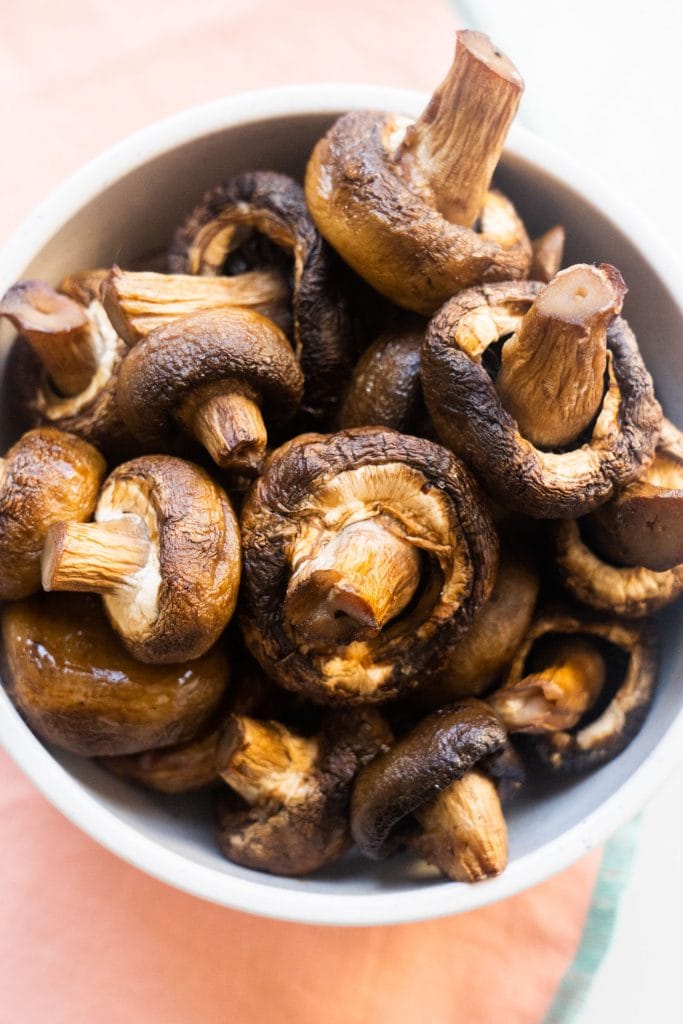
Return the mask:
<svg viewBox="0 0 683 1024">
<path fill-rule="evenodd" d="M 275 424 L 296 412 L 303 390 L 280 328 L 253 310 L 212 309 L 157 328 L 133 346 L 121 368 L 117 400 L 139 440 L 168 443 L 183 398 L 221 381 L 246 386 Z"/>
</svg>

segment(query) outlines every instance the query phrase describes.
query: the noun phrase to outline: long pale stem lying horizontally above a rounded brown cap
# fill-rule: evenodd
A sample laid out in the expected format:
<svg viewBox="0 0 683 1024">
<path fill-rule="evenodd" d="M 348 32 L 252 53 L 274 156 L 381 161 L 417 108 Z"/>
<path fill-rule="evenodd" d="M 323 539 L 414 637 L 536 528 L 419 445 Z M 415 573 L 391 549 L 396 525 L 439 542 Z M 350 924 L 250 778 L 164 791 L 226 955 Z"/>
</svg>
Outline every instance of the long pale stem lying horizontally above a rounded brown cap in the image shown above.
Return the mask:
<svg viewBox="0 0 683 1024">
<path fill-rule="evenodd" d="M 101 286 L 101 299 L 118 334 L 128 345 L 180 316 L 205 309 L 242 306 L 267 316 L 286 334 L 291 330 L 290 289 L 274 269 L 233 278 L 122 270 L 115 266 Z"/>
</svg>

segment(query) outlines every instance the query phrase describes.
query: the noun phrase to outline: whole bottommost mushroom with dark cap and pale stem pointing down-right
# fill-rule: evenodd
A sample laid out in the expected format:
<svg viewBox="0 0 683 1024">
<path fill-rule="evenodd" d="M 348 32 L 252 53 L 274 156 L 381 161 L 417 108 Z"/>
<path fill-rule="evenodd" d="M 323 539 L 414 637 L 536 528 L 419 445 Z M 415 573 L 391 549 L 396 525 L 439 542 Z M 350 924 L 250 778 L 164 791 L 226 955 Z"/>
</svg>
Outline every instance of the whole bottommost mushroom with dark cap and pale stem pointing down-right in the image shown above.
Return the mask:
<svg viewBox="0 0 683 1024">
<path fill-rule="evenodd" d="M 408 842 L 454 881 L 499 874 L 508 838 L 490 771 L 505 746 L 500 719 L 480 700 L 423 719 L 358 774 L 351 833 L 360 852 L 378 860 Z"/>
</svg>

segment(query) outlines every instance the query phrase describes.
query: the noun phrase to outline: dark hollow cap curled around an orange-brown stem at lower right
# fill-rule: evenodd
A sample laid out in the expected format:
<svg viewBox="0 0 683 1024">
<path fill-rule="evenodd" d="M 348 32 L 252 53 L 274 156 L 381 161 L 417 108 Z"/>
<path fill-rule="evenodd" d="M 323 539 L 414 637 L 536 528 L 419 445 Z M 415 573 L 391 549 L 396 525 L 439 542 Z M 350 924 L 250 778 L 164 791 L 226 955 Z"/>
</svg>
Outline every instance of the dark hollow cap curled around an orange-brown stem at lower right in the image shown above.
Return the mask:
<svg viewBox="0 0 683 1024">
<path fill-rule="evenodd" d="M 559 608 L 541 612 L 532 623 L 510 666 L 504 686 L 513 686 L 524 677 L 537 641 L 547 636 L 577 634 L 595 637 L 603 645 L 606 641 L 627 656 L 628 664 L 615 690 L 610 686 L 608 664 L 603 694 L 613 695 L 592 721 L 587 721 L 589 712 L 571 730 L 519 737 L 523 755 L 552 774 L 577 774 L 598 768 L 626 750 L 645 721 L 656 685 L 657 644 L 651 624 L 600 618 L 587 611 Z M 609 660 L 607 657 L 607 663 Z"/>
</svg>

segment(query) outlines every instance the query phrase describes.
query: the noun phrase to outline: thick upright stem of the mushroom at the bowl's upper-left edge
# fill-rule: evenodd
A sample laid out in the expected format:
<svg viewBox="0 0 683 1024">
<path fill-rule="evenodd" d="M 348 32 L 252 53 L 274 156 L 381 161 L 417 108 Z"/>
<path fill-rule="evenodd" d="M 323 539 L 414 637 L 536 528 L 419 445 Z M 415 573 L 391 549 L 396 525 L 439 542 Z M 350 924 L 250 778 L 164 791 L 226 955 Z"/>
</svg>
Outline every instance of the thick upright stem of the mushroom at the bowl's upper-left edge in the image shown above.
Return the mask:
<svg viewBox="0 0 683 1024">
<path fill-rule="evenodd" d="M 55 389 L 80 394 L 97 369 L 97 341 L 87 311 L 42 281 L 19 281 L 0 302 L 6 316 L 29 342 Z"/>
</svg>

